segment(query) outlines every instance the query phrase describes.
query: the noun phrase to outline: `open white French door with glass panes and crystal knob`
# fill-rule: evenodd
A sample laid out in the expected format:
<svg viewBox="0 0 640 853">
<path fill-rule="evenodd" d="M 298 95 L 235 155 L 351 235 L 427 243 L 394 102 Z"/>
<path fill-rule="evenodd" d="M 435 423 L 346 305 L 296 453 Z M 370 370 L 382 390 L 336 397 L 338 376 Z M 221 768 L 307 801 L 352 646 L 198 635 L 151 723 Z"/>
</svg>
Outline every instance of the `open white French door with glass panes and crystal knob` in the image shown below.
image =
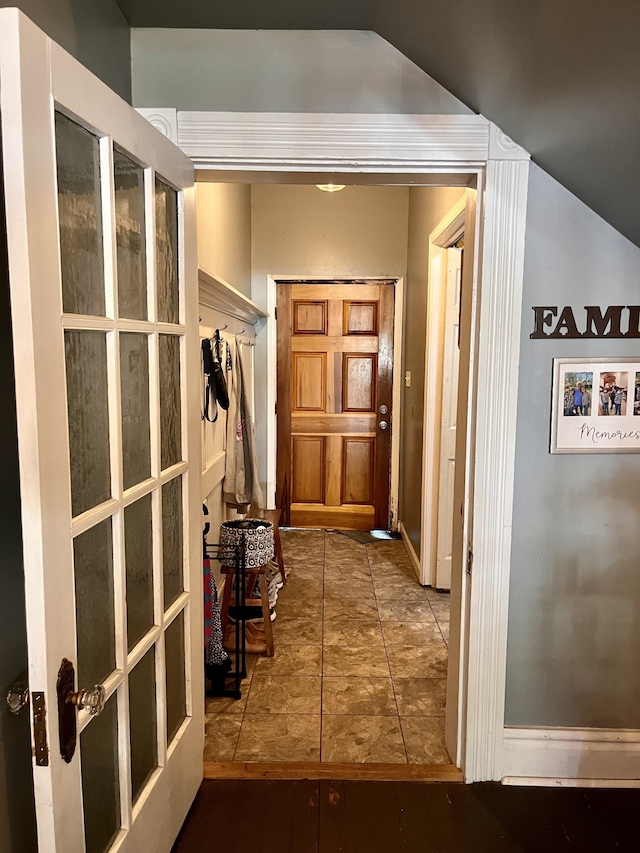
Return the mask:
<svg viewBox="0 0 640 853">
<path fill-rule="evenodd" d="M 193 168 L 14 9 L 0 120 L 39 850 L 161 853 L 202 778 Z"/>
</svg>

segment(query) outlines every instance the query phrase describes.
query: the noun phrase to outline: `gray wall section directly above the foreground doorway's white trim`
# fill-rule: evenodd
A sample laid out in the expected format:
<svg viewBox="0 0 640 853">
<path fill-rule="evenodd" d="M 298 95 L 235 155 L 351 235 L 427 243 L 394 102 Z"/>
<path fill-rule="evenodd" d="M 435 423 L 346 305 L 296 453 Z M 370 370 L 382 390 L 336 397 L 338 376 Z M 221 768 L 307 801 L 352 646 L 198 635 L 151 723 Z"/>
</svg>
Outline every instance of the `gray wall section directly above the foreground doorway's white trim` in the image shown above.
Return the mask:
<svg viewBox="0 0 640 853">
<path fill-rule="evenodd" d="M 470 112 L 370 32 L 131 31 L 136 107 L 240 112 Z"/>
</svg>

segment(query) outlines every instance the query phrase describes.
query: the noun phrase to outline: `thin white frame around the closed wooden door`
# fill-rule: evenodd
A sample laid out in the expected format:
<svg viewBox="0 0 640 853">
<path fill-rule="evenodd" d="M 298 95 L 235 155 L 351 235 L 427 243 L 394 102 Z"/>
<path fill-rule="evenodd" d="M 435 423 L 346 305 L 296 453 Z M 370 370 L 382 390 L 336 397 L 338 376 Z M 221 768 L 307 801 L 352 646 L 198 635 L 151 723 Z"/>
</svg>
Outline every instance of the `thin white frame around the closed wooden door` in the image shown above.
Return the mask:
<svg viewBox="0 0 640 853">
<path fill-rule="evenodd" d="M 403 347 L 404 317 L 404 277 L 403 276 L 356 276 L 350 275 L 267 275 L 267 338 L 265 342 L 267 362 L 267 505 L 271 504 L 276 493 L 276 450 L 278 419 L 275 414 L 278 396 L 278 327 L 276 323 L 277 282 L 279 281 L 340 281 L 357 278 L 362 281 L 378 281 L 395 278 L 395 300 L 393 316 L 393 380 L 392 380 L 392 426 L 391 426 L 391 479 L 389 484 L 389 517 L 392 530 L 398 527 L 398 498 L 400 493 L 400 399 L 402 394 L 401 365 Z M 256 341 L 257 346 L 257 341 Z"/>
</svg>

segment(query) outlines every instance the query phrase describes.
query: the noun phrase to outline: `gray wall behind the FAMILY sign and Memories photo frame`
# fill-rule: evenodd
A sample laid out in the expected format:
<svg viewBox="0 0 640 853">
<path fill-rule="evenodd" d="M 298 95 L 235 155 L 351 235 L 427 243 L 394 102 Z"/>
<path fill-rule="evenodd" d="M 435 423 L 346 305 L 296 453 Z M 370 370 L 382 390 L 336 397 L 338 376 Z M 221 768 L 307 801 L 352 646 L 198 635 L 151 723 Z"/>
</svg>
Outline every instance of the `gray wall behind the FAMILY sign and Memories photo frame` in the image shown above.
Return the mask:
<svg viewBox="0 0 640 853">
<path fill-rule="evenodd" d="M 549 454 L 552 358 L 638 341 L 529 339 L 532 305 L 638 304 L 640 249 L 535 166 L 526 241 L 506 723 L 640 728 L 640 456 Z"/>
</svg>

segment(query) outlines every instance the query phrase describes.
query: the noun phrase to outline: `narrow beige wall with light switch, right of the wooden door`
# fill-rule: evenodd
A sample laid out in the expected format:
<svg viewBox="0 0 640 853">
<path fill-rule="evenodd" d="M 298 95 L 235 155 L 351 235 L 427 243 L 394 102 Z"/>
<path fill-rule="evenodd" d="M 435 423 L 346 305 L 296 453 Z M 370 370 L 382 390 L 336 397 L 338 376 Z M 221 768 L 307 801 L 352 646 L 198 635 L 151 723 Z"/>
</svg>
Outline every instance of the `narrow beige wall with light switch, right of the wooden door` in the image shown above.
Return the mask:
<svg viewBox="0 0 640 853">
<path fill-rule="evenodd" d="M 463 193 L 464 189 L 448 187 L 412 187 L 409 191 L 403 371 L 411 371 L 411 388 L 403 386 L 402 389 L 399 515 L 418 558 L 420 557 L 422 513 L 422 433 L 429 234 Z"/>
</svg>

